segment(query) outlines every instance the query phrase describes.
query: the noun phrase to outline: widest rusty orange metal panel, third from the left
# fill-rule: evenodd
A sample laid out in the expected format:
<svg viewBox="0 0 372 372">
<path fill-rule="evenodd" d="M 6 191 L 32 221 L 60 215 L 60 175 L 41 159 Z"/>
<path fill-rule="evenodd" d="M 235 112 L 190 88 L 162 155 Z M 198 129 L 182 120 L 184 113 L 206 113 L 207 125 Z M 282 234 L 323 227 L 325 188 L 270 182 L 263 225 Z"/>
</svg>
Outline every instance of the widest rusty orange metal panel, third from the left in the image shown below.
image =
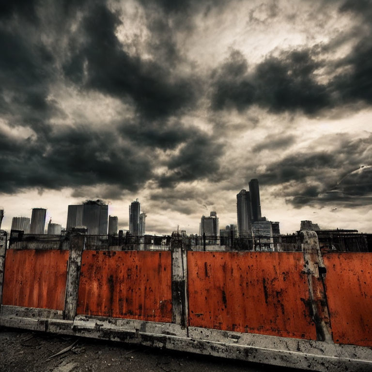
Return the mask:
<svg viewBox="0 0 372 372">
<path fill-rule="evenodd" d="M 316 340 L 302 252 L 187 252 L 189 324 Z"/>
</svg>

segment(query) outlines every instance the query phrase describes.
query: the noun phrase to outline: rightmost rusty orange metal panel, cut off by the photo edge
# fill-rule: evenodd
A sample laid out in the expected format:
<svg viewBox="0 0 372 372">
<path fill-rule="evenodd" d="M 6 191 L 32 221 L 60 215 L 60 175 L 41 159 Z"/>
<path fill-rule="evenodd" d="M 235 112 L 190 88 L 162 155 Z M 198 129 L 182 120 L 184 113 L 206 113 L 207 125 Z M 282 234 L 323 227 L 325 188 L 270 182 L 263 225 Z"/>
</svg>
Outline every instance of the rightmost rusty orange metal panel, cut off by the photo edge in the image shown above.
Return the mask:
<svg viewBox="0 0 372 372">
<path fill-rule="evenodd" d="M 325 253 L 333 341 L 372 346 L 372 253 Z"/>
</svg>

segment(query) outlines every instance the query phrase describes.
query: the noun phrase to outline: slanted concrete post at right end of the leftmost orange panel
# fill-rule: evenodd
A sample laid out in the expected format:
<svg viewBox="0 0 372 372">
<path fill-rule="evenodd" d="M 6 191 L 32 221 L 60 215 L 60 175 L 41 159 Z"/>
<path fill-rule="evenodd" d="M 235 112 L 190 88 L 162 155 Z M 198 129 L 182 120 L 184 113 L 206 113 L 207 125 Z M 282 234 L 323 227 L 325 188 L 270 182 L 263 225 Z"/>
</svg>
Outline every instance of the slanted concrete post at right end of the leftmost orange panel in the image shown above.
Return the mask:
<svg viewBox="0 0 372 372">
<path fill-rule="evenodd" d="M 67 268 L 66 297 L 64 319 L 74 320 L 78 305 L 78 290 L 81 268 L 81 256 L 85 246 L 85 235 L 75 233 L 70 236 L 70 256 Z"/>
</svg>

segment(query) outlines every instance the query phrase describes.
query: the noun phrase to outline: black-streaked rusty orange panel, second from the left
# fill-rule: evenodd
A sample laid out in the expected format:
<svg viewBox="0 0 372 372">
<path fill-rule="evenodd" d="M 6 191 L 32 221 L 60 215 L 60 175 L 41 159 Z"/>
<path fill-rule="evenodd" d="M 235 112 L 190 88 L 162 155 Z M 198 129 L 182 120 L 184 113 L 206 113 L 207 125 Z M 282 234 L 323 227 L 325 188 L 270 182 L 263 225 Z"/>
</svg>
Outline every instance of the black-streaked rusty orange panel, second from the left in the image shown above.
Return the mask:
<svg viewBox="0 0 372 372">
<path fill-rule="evenodd" d="M 171 252 L 83 252 L 78 314 L 171 323 Z"/>
</svg>

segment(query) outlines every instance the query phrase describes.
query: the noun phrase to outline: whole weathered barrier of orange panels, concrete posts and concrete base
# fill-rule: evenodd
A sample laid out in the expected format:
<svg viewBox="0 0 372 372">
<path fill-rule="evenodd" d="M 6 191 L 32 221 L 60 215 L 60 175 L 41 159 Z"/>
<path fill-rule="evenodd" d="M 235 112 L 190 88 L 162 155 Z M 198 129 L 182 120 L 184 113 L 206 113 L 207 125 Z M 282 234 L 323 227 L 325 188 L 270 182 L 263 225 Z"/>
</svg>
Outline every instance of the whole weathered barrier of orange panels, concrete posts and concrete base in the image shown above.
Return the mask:
<svg viewBox="0 0 372 372">
<path fill-rule="evenodd" d="M 302 252 L 186 252 L 178 239 L 93 250 L 82 234 L 69 246 L 17 242 L 0 251 L 0 325 L 372 371 L 372 253 L 322 254 L 314 232 L 302 241 Z"/>
</svg>

